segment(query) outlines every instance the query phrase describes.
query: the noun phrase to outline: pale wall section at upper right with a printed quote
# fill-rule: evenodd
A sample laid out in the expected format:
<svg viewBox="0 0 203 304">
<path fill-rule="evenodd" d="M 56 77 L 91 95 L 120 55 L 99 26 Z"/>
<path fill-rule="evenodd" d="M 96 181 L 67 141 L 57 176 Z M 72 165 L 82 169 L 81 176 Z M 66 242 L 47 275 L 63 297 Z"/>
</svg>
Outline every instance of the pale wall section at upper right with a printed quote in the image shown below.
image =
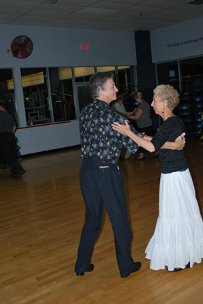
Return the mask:
<svg viewBox="0 0 203 304">
<path fill-rule="evenodd" d="M 152 62 L 203 54 L 203 17 L 150 32 Z"/>
</svg>

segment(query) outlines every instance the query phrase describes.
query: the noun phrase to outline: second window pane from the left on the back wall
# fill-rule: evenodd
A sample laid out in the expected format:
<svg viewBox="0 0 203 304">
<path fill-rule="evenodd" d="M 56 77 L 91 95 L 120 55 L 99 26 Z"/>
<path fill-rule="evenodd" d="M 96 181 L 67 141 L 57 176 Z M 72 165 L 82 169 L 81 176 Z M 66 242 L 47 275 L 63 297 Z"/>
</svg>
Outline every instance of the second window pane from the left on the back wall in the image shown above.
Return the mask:
<svg viewBox="0 0 203 304">
<path fill-rule="evenodd" d="M 45 68 L 21 69 L 27 126 L 51 122 Z"/>
</svg>

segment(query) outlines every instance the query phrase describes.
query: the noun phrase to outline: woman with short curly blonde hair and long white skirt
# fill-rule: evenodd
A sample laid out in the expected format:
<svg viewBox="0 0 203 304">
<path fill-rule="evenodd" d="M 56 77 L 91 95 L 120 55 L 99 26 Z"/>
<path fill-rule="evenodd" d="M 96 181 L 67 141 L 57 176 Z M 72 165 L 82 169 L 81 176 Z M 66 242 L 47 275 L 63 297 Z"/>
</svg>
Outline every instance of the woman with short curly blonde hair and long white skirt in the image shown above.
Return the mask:
<svg viewBox="0 0 203 304">
<path fill-rule="evenodd" d="M 203 221 L 195 197 L 195 188 L 184 151 L 160 149 L 166 141 L 185 131 L 182 120 L 173 114 L 179 94 L 170 85 L 154 90 L 152 107 L 164 119 L 159 132 L 152 138 L 140 138 L 130 128 L 114 124 L 114 130 L 130 136 L 148 151 L 159 151 L 161 179 L 159 187 L 159 217 L 155 233 L 145 250 L 150 268 L 177 272 L 202 262 Z"/>
</svg>

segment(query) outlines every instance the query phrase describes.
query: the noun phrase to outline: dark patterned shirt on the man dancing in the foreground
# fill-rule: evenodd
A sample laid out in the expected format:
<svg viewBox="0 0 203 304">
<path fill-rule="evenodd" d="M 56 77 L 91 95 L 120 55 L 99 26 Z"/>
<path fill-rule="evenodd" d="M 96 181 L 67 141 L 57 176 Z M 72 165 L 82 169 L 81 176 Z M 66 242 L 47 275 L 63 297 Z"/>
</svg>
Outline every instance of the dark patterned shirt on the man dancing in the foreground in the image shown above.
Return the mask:
<svg viewBox="0 0 203 304">
<path fill-rule="evenodd" d="M 113 130 L 112 123 L 125 124 L 125 118 L 113 112 L 105 101 L 94 100 L 82 109 L 80 114 L 80 159 L 93 158 L 115 164 L 121 153 L 121 146 L 135 153 L 139 146 L 129 137 Z M 130 122 L 128 121 L 130 124 Z M 130 124 L 136 135 L 143 137 Z"/>
</svg>

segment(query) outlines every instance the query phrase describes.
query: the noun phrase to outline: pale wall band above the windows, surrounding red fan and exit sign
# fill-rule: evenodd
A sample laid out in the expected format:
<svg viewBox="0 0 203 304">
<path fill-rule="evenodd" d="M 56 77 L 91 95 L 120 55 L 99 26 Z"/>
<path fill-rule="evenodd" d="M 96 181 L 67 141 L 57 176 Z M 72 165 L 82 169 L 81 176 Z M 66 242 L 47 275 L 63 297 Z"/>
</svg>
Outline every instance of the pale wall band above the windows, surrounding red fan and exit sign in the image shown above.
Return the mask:
<svg viewBox="0 0 203 304">
<path fill-rule="evenodd" d="M 30 37 L 34 46 L 23 60 L 6 51 L 19 35 Z M 1 67 L 136 65 L 132 32 L 0 25 L 0 41 Z M 89 44 L 89 51 L 81 51 L 80 44 Z"/>
</svg>

